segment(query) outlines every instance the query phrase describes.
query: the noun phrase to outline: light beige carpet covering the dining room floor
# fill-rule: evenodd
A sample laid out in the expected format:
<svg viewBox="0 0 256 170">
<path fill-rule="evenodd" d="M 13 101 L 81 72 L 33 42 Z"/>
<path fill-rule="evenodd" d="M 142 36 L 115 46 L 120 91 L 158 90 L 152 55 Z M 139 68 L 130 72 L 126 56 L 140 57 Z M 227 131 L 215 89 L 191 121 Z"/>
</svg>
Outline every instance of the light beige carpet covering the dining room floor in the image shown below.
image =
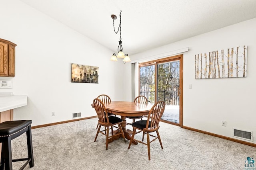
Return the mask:
<svg viewBox="0 0 256 170">
<path fill-rule="evenodd" d="M 160 122 L 160 137 L 147 146 L 96 135 L 97 118 L 32 129 L 35 166 L 26 170 L 242 170 L 256 148 Z M 130 125 L 127 126 L 132 129 Z M 142 137 L 142 133 L 136 138 Z M 26 135 L 12 140 L 13 158 L 26 157 Z M 254 158 L 254 157 L 253 157 Z M 22 162 L 13 162 L 14 170 Z"/>
</svg>

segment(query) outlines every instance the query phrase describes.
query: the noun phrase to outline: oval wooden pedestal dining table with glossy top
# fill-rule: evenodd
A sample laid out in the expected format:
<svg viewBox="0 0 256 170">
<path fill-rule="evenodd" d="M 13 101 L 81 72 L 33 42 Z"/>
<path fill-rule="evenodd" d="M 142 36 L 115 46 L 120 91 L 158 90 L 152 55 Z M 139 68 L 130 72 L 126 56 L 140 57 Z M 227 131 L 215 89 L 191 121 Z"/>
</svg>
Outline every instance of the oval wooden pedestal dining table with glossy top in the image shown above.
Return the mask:
<svg viewBox="0 0 256 170">
<path fill-rule="evenodd" d="M 122 130 L 124 131 L 124 137 L 128 140 L 132 137 L 132 130 L 126 129 L 126 116 L 142 116 L 148 115 L 150 109 L 152 108 L 152 104 L 140 104 L 134 102 L 126 102 L 126 101 L 111 101 L 109 103 L 104 103 L 106 110 L 108 113 L 113 113 L 115 115 L 120 115 L 123 122 L 121 123 Z M 93 104 L 91 104 L 92 107 Z M 108 143 L 119 139 L 122 137 L 119 129 L 114 131 L 114 133 L 120 133 L 115 137 L 112 137 L 108 140 Z M 134 144 L 138 144 L 138 142 L 133 141 Z"/>
</svg>

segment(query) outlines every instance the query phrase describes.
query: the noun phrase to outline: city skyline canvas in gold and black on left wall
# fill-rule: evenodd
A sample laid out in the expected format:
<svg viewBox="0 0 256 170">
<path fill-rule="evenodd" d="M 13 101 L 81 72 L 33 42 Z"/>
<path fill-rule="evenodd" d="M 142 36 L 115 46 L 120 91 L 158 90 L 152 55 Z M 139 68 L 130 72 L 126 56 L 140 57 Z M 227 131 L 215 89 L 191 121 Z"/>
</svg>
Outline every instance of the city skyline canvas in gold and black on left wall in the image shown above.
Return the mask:
<svg viewBox="0 0 256 170">
<path fill-rule="evenodd" d="M 98 83 L 98 70 L 97 66 L 87 66 L 82 64 L 72 63 L 72 76 L 71 82 L 76 83 Z"/>
</svg>

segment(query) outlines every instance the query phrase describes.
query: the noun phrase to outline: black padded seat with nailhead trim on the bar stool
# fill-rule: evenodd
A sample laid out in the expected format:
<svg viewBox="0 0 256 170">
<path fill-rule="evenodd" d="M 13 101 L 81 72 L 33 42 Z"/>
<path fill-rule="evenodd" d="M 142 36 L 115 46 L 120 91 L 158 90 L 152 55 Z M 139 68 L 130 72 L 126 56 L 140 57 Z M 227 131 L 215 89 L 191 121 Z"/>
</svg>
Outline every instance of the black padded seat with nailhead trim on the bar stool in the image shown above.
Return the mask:
<svg viewBox="0 0 256 170">
<path fill-rule="evenodd" d="M 4 121 L 0 123 L 0 137 L 9 136 L 28 127 L 31 120 Z"/>
</svg>

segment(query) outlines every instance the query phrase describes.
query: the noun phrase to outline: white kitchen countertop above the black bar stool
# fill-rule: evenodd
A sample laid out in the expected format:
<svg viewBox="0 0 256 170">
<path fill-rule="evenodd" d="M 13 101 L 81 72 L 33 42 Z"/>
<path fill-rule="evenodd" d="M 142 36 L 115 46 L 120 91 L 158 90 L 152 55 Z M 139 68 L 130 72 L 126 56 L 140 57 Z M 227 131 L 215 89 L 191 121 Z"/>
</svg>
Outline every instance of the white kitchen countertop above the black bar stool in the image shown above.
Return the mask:
<svg viewBox="0 0 256 170">
<path fill-rule="evenodd" d="M 27 105 L 27 96 L 0 96 L 0 112 Z"/>
</svg>

